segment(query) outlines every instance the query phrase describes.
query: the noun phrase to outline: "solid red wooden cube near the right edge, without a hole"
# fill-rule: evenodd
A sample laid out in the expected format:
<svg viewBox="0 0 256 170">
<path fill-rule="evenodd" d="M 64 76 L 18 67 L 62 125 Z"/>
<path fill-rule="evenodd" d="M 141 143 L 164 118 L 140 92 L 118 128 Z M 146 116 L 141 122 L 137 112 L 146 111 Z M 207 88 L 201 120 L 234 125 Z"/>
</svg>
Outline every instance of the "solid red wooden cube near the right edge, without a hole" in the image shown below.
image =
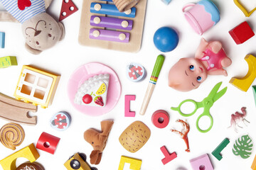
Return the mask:
<svg viewBox="0 0 256 170">
<path fill-rule="evenodd" d="M 250 28 L 249 24 L 246 21 L 240 23 L 240 25 L 236 26 L 228 33 L 230 33 L 236 44 L 242 44 L 243 42 L 249 40 L 255 35 L 252 28 Z"/>
</svg>

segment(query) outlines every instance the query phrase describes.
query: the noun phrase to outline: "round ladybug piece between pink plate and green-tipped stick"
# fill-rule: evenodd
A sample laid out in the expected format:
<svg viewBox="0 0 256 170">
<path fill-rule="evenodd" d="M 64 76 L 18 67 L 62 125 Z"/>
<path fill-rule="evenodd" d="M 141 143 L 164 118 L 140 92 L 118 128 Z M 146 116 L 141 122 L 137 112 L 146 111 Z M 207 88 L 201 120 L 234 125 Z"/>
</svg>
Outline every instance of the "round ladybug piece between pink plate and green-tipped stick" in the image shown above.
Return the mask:
<svg viewBox="0 0 256 170">
<path fill-rule="evenodd" d="M 134 82 L 144 80 L 146 77 L 146 70 L 141 64 L 132 62 L 127 66 L 127 78 Z"/>
</svg>

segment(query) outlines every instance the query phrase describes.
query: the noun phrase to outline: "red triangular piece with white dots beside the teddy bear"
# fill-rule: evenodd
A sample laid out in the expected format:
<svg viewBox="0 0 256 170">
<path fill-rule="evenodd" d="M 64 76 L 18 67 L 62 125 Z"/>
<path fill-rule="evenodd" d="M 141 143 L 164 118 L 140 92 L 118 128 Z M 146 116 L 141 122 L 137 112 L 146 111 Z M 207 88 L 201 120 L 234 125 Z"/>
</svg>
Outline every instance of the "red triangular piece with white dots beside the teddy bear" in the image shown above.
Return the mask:
<svg viewBox="0 0 256 170">
<path fill-rule="evenodd" d="M 60 10 L 60 18 L 59 21 L 63 21 L 63 19 L 67 18 L 71 14 L 78 11 L 78 7 L 75 6 L 72 0 L 63 0 L 63 4 Z"/>
</svg>

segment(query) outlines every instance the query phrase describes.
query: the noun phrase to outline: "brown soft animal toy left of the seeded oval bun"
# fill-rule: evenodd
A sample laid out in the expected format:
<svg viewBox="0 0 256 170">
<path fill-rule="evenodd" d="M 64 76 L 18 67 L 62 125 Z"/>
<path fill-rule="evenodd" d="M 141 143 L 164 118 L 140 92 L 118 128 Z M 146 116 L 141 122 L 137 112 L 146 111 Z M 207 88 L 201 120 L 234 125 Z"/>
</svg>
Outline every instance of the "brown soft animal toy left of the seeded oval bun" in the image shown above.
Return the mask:
<svg viewBox="0 0 256 170">
<path fill-rule="evenodd" d="M 102 152 L 106 147 L 107 138 L 110 135 L 113 123 L 112 120 L 103 120 L 100 123 L 102 132 L 95 129 L 89 129 L 84 132 L 85 141 L 93 147 L 93 151 L 90 154 L 91 164 L 100 164 Z"/>
</svg>

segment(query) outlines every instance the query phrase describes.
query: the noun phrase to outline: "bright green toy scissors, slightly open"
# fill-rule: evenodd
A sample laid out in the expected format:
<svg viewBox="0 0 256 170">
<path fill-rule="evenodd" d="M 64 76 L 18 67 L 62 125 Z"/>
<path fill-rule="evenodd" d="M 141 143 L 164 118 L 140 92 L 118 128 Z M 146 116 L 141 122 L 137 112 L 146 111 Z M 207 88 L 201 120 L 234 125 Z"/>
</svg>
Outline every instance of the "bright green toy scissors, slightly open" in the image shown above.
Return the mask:
<svg viewBox="0 0 256 170">
<path fill-rule="evenodd" d="M 210 115 L 210 108 L 213 106 L 213 103 L 215 101 L 217 101 L 221 96 L 223 96 L 228 89 L 228 87 L 225 87 L 224 89 L 222 89 L 221 91 L 218 92 L 218 89 L 220 89 L 221 84 L 222 84 L 222 82 L 219 82 L 218 84 L 216 84 L 213 87 L 213 89 L 210 91 L 210 94 L 206 98 L 203 98 L 203 101 L 196 102 L 191 99 L 188 99 L 188 100 L 182 101 L 179 104 L 178 108 L 172 107 L 171 109 L 174 111 L 178 111 L 178 113 L 180 113 L 182 116 L 188 117 L 188 116 L 191 116 L 194 113 L 196 113 L 198 108 L 204 108 L 203 113 L 201 115 L 199 115 L 198 119 L 196 120 L 196 128 L 198 129 L 199 132 L 208 132 L 213 127 L 213 117 Z M 188 114 L 182 113 L 181 106 L 183 105 L 183 103 L 188 103 L 188 102 L 191 102 L 194 104 L 195 110 L 192 113 L 188 113 Z M 199 128 L 199 125 L 198 125 L 199 120 L 204 115 L 206 115 L 206 116 L 208 116 L 208 118 L 210 118 L 210 127 L 207 130 L 201 130 L 201 128 Z"/>
</svg>

